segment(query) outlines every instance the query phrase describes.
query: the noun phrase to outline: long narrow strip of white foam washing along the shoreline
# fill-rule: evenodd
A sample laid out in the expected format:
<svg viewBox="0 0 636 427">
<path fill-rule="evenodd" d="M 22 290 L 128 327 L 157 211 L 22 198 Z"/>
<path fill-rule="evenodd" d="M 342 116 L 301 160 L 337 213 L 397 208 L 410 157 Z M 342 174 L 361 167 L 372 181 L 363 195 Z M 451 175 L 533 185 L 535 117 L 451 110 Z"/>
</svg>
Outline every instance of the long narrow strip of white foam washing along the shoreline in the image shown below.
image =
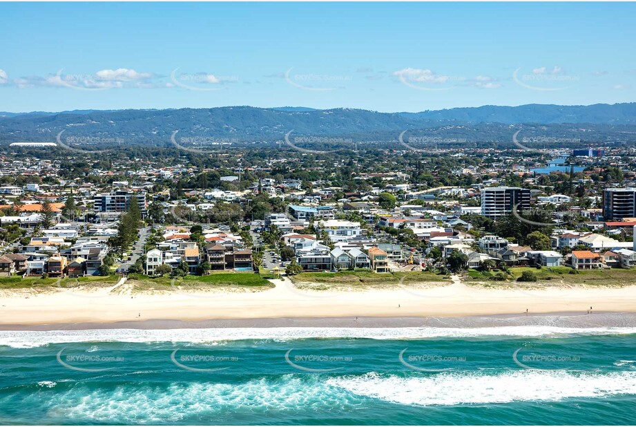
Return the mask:
<svg viewBox="0 0 636 427">
<path fill-rule="evenodd" d="M 366 338 L 427 339 L 485 336 L 550 337 L 570 335 L 636 334 L 636 328 L 561 328 L 555 326 L 503 326 L 492 328 L 200 328 L 200 329 L 99 329 L 54 331 L 0 331 L 0 345 L 31 348 L 55 343 L 197 343 L 214 344 L 242 339 Z"/>
</svg>

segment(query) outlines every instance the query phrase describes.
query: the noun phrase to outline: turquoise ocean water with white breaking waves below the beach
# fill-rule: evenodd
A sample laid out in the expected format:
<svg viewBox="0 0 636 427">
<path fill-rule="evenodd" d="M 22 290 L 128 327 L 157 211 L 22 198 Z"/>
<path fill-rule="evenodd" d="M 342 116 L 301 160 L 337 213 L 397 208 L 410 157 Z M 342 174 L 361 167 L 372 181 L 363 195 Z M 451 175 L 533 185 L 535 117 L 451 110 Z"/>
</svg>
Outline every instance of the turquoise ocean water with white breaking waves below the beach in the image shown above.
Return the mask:
<svg viewBox="0 0 636 427">
<path fill-rule="evenodd" d="M 0 424 L 636 424 L 636 329 L 0 331 Z"/>
</svg>

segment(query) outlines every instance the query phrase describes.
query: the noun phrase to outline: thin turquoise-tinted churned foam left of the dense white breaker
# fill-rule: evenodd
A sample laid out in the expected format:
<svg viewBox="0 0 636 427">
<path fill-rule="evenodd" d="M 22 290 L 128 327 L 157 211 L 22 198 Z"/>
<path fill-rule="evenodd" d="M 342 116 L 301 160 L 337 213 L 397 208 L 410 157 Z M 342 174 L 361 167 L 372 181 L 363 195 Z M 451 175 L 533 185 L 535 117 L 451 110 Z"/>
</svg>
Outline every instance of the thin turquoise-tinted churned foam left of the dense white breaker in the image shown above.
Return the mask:
<svg viewBox="0 0 636 427">
<path fill-rule="evenodd" d="M 37 396 L 26 399 L 25 404 L 38 401 Z M 175 424 L 200 421 L 198 417 L 235 416 L 239 412 L 274 410 L 280 414 L 298 408 L 320 412 L 335 407 L 351 411 L 359 401 L 360 398 L 345 390 L 329 388 L 324 381 L 289 374 L 280 379 L 259 378 L 238 385 L 209 382 L 173 383 L 166 388 L 122 385 L 113 390 L 79 386 L 50 395 L 46 405 L 53 420 Z"/>
</svg>

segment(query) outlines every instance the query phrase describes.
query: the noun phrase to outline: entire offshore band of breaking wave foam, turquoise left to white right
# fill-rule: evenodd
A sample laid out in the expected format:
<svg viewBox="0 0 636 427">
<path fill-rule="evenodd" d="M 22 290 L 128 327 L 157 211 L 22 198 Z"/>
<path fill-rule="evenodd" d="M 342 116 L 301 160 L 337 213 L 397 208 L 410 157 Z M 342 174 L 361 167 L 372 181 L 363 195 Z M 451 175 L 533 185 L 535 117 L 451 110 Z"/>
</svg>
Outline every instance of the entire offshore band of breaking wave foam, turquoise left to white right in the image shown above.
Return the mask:
<svg viewBox="0 0 636 427">
<path fill-rule="evenodd" d="M 325 378 L 283 375 L 244 383 L 171 383 L 166 387 L 122 384 L 112 390 L 77 386 L 47 397 L 24 397 L 24 405 L 44 404 L 50 420 L 122 424 L 200 422 L 204 417 L 240 417 L 299 408 L 355 411 L 366 399 L 409 406 L 503 404 L 559 401 L 636 394 L 636 372 L 504 371 L 454 372 L 403 377 L 374 372 Z M 1 402 L 0 398 L 0 403 Z M 234 420 L 237 418 L 233 418 Z"/>
</svg>

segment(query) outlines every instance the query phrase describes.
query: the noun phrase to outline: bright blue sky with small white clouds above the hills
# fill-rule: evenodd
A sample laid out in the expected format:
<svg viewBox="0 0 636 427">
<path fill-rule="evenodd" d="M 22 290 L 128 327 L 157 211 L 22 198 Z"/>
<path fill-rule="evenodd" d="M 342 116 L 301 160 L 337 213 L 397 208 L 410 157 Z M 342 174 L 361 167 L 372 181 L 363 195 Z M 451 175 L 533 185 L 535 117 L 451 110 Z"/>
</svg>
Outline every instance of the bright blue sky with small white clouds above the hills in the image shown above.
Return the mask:
<svg viewBox="0 0 636 427">
<path fill-rule="evenodd" d="M 636 101 L 634 3 L 0 3 L 0 111 Z"/>
</svg>

